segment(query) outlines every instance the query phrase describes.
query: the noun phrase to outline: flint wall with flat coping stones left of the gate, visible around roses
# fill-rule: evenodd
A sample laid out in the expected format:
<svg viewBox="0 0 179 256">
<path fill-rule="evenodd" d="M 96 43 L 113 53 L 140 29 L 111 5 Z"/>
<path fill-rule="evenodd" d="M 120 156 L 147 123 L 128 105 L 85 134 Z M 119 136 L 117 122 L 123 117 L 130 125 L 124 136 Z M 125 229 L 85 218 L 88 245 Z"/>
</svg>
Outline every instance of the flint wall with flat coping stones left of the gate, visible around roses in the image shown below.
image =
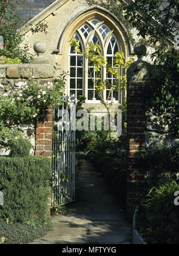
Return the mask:
<svg viewBox="0 0 179 256">
<path fill-rule="evenodd" d="M 54 78 L 54 67 L 50 64 L 14 64 L 14 65 L 0 65 L 0 94 L 4 96 L 13 95 L 14 90 L 20 90 L 21 87 L 26 86 L 27 80 L 33 78 L 38 84 L 44 85 L 48 81 L 53 81 Z M 49 124 L 49 122 L 48 122 Z M 52 120 L 50 121 L 50 126 Z M 47 126 L 47 122 L 45 124 Z M 38 125 L 39 126 L 39 125 Z M 12 129 L 14 129 L 12 127 Z M 41 135 L 36 134 L 36 127 L 33 124 L 18 124 L 16 129 L 23 133 L 24 138 L 28 138 L 32 144 L 32 149 L 30 154 L 34 155 L 38 152 L 38 147 L 45 150 L 45 145 L 42 145 L 46 141 L 42 141 L 39 145 L 37 141 L 37 136 L 47 137 L 45 133 Z M 48 136 L 48 138 L 50 138 Z M 50 139 L 48 139 L 48 145 L 51 144 Z M 44 151 L 42 151 L 43 154 Z M 48 146 L 48 154 L 51 153 L 51 146 Z M 0 156 L 8 156 L 10 150 L 8 147 L 0 145 Z"/>
</svg>

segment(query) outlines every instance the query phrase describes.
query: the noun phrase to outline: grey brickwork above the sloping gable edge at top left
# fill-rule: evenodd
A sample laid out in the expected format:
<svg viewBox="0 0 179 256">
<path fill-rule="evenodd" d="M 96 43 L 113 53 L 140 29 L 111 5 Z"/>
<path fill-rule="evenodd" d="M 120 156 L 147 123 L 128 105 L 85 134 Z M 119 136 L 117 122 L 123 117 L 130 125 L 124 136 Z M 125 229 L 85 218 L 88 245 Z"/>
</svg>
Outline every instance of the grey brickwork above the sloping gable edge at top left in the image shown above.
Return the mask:
<svg viewBox="0 0 179 256">
<path fill-rule="evenodd" d="M 11 2 L 16 6 L 17 15 L 23 23 L 26 23 L 55 2 L 55 0 L 12 0 Z"/>
</svg>

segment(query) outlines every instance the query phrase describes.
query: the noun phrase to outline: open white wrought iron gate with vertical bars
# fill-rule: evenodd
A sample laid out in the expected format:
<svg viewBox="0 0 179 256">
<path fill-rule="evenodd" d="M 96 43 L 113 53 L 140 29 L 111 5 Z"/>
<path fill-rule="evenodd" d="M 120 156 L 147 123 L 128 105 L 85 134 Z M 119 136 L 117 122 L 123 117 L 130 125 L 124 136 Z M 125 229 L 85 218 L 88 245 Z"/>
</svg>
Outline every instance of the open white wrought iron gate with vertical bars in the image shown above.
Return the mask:
<svg viewBox="0 0 179 256">
<path fill-rule="evenodd" d="M 75 201 L 76 102 L 66 99 L 53 115 L 53 205 Z"/>
</svg>

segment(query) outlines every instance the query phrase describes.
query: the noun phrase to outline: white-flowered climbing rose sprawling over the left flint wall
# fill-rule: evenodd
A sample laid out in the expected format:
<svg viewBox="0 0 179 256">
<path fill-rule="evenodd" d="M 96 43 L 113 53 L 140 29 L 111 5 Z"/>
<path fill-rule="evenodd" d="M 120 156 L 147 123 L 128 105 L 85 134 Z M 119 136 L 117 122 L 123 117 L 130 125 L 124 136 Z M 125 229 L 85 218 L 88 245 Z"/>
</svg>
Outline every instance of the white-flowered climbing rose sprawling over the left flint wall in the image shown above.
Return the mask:
<svg viewBox="0 0 179 256">
<path fill-rule="evenodd" d="M 17 135 L 15 126 L 19 123 L 45 121 L 48 106 L 56 108 L 63 102 L 61 90 L 64 89 L 64 83 L 64 80 L 55 79 L 53 83 L 42 86 L 28 80 L 8 96 L 0 95 L 0 142 L 5 142 L 8 136 L 14 138 Z"/>
</svg>

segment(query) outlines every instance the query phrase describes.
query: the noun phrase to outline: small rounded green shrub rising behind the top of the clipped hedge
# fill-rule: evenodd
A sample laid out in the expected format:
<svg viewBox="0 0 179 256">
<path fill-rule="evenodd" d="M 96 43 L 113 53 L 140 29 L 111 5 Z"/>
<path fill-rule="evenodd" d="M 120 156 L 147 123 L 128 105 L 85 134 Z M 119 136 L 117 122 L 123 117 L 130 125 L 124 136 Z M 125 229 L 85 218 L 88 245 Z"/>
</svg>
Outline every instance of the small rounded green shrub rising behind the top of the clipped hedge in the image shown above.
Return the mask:
<svg viewBox="0 0 179 256">
<path fill-rule="evenodd" d="M 29 139 L 18 138 L 10 142 L 10 156 L 11 157 L 27 157 L 30 154 L 32 145 Z"/>
</svg>

